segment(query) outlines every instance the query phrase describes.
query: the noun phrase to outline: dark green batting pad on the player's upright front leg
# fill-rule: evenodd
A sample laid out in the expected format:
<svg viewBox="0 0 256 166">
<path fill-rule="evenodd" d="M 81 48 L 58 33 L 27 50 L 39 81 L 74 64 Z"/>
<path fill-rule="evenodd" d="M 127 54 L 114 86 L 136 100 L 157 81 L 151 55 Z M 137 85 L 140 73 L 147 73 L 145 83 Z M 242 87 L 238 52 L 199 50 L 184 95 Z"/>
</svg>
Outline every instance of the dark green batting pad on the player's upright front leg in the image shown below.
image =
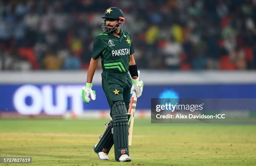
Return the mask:
<svg viewBox="0 0 256 166">
<path fill-rule="evenodd" d="M 128 149 L 128 113 L 124 102 L 116 102 L 110 115 L 113 120 L 113 138 L 115 144 L 115 160 L 119 161 L 122 154 L 129 156 Z"/>
</svg>

